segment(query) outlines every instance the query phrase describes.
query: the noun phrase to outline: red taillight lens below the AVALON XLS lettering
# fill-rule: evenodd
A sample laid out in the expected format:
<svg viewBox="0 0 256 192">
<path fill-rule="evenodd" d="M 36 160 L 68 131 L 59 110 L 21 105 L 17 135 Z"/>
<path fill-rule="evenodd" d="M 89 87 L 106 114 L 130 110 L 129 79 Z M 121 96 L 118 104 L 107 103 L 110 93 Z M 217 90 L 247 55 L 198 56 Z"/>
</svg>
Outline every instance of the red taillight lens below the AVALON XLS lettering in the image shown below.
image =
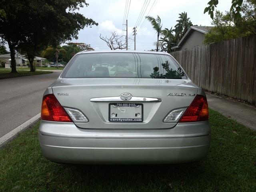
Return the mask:
<svg viewBox="0 0 256 192">
<path fill-rule="evenodd" d="M 180 119 L 180 122 L 205 121 L 208 120 L 208 118 L 208 104 L 206 97 L 197 95 Z"/>
</svg>

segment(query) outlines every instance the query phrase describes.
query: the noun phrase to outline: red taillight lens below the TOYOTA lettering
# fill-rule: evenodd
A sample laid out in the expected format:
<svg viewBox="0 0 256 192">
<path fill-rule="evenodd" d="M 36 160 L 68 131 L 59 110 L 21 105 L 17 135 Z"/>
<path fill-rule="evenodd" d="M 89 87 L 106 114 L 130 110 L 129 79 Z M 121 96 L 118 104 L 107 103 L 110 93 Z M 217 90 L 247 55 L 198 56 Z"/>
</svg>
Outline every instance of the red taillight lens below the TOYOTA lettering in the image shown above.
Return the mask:
<svg viewBox="0 0 256 192">
<path fill-rule="evenodd" d="M 43 97 L 41 119 L 47 121 L 72 122 L 54 94 Z"/>
</svg>

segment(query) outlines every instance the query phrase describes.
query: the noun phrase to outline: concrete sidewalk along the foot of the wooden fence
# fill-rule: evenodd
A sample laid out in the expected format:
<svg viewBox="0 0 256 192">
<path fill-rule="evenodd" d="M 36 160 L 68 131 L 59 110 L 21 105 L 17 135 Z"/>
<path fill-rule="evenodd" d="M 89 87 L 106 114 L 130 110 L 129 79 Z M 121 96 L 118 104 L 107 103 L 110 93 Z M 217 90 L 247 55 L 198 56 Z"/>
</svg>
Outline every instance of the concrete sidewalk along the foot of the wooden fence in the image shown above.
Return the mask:
<svg viewBox="0 0 256 192">
<path fill-rule="evenodd" d="M 234 119 L 240 124 L 256 130 L 256 108 L 223 98 L 215 96 L 206 92 L 208 105 L 210 108 L 220 112 L 222 115 Z"/>
</svg>

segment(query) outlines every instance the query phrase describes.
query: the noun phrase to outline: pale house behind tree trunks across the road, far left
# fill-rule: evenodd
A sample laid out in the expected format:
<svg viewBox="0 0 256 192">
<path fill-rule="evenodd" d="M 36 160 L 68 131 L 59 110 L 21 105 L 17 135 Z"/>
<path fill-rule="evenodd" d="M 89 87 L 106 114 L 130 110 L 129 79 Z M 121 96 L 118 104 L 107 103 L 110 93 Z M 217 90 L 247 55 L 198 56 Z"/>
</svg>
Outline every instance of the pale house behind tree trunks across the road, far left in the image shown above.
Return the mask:
<svg viewBox="0 0 256 192">
<path fill-rule="evenodd" d="M 11 66 L 11 54 L 0 55 L 0 60 L 6 60 L 5 68 L 10 68 Z M 35 57 L 34 61 L 36 62 L 36 66 L 42 66 L 42 61 L 46 60 L 46 58 Z M 27 66 L 29 64 L 28 59 L 21 54 L 15 54 L 16 66 Z"/>
</svg>

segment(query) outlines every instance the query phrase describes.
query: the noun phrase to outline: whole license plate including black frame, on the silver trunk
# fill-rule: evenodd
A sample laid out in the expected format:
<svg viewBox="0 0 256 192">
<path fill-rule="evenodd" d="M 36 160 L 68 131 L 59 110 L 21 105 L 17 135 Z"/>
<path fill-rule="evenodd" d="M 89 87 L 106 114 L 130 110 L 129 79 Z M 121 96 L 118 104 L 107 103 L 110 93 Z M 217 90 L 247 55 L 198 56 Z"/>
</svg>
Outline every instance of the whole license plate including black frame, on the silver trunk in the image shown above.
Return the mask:
<svg viewBox="0 0 256 192">
<path fill-rule="evenodd" d="M 143 122 L 143 104 L 110 103 L 108 120 L 110 122 Z"/>
</svg>

